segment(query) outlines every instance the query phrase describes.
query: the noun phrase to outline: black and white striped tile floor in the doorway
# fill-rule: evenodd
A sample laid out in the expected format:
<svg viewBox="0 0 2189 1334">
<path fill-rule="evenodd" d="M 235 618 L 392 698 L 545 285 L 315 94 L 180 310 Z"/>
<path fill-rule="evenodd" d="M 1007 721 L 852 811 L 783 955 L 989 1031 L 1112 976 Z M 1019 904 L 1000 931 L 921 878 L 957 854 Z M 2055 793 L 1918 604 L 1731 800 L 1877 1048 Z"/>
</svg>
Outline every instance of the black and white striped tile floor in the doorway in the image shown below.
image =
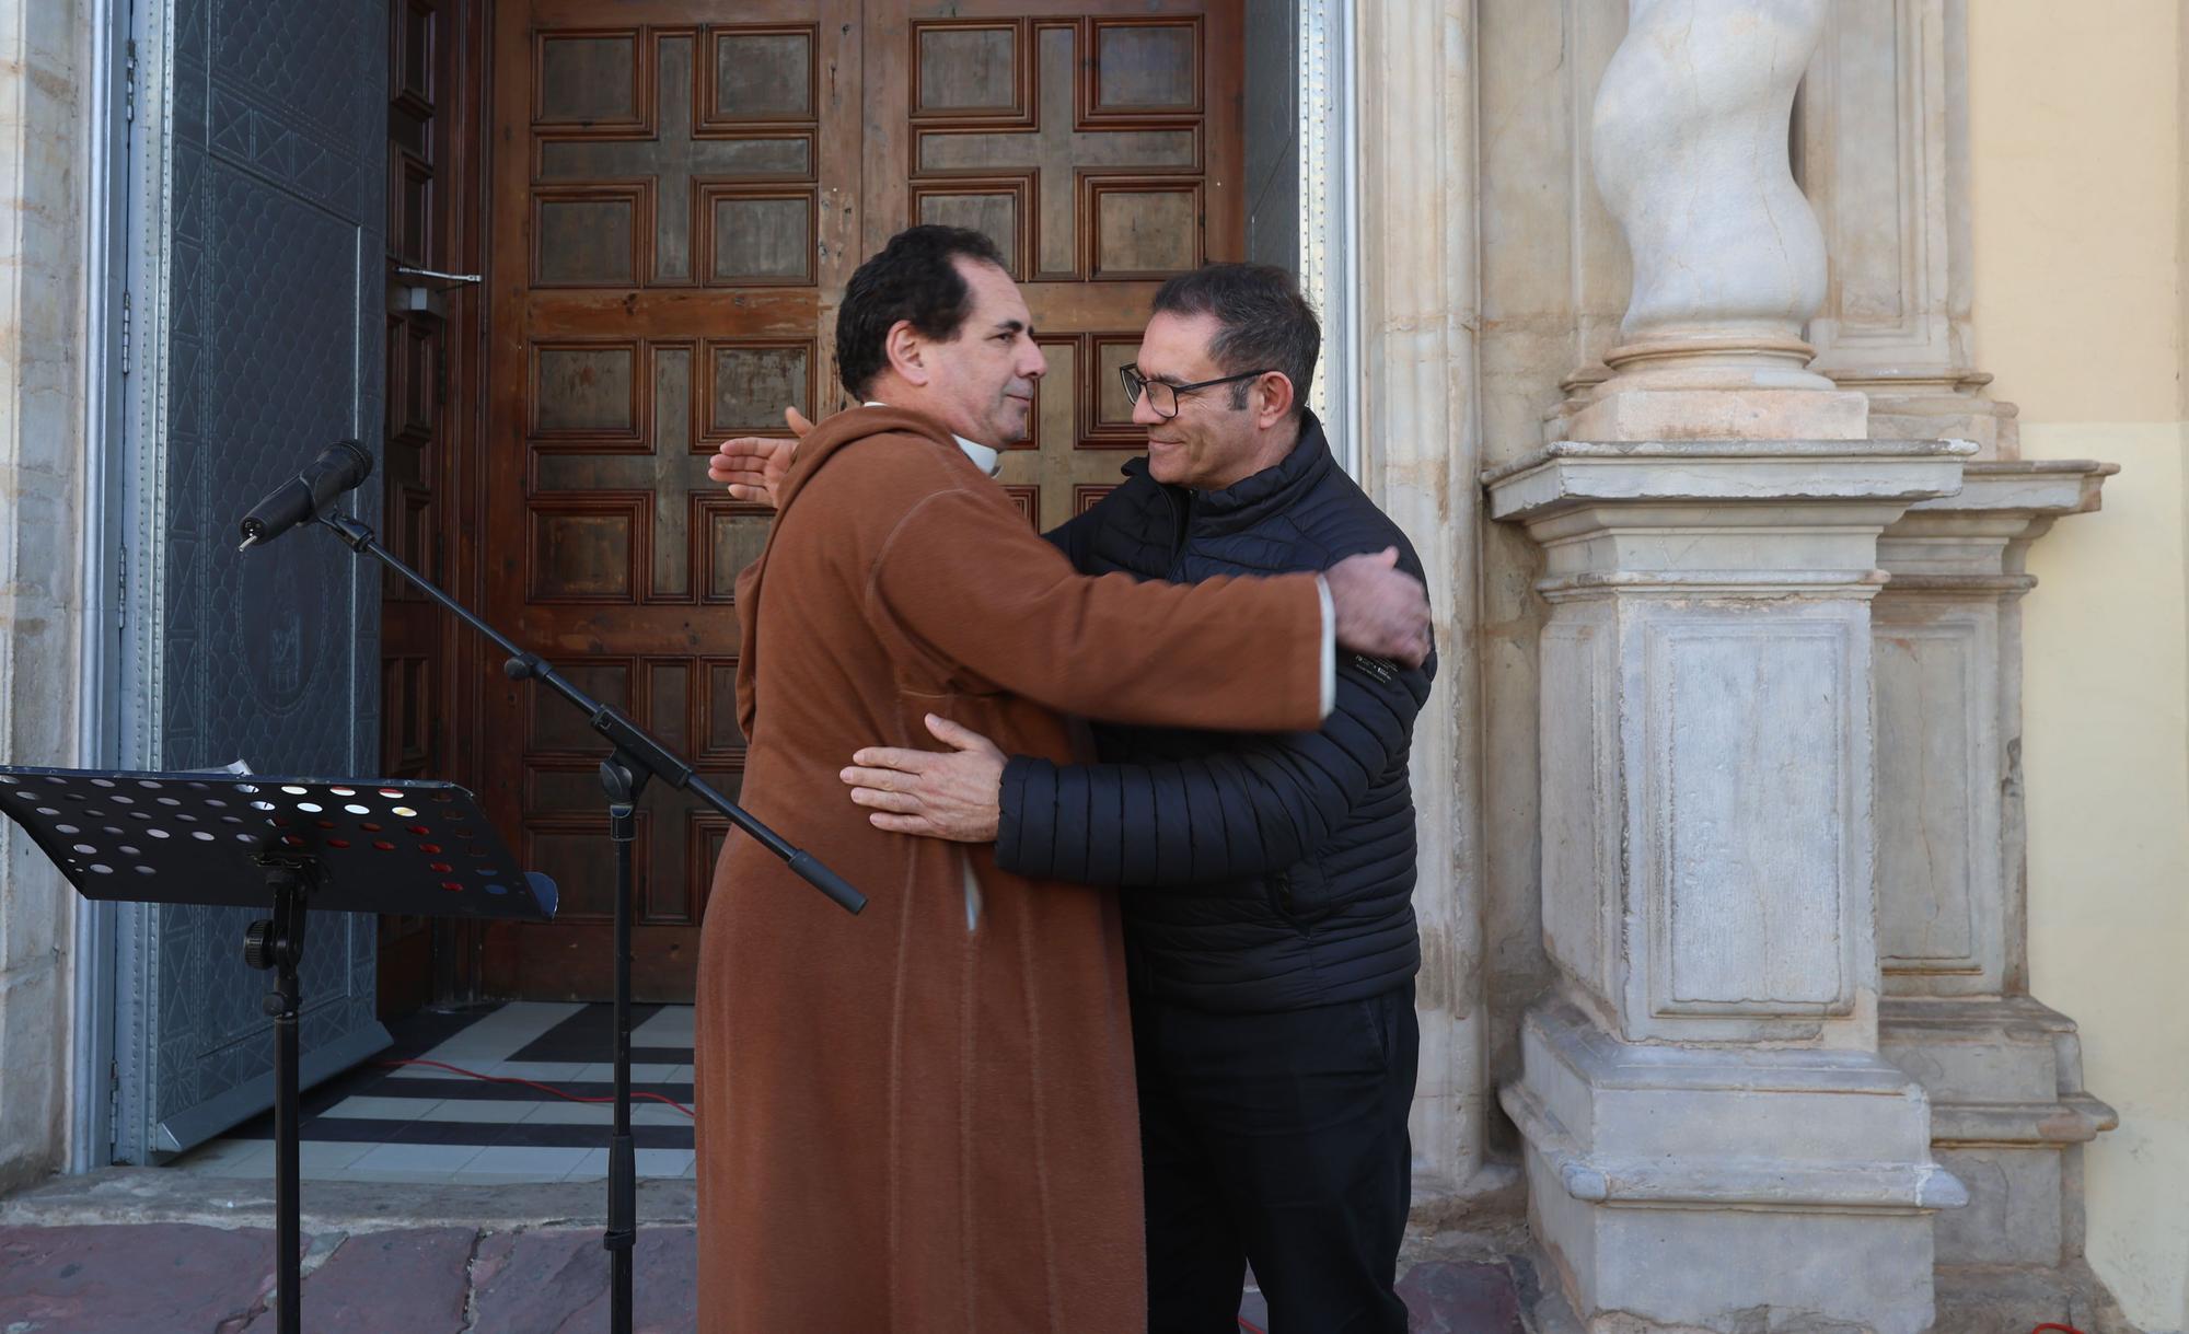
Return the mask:
<svg viewBox="0 0 2189 1334">
<path fill-rule="evenodd" d="M 302 1166 L 311 1181 L 425 1181 L 499 1185 L 589 1181 L 609 1174 L 606 1102 L 567 1102 L 521 1078 L 580 1098 L 615 1091 L 613 1010 L 510 1002 L 460 1015 L 427 1013 L 396 1026 L 396 1045 L 304 1093 Z M 633 1006 L 633 1093 L 692 1107 L 692 1006 Z M 692 1177 L 692 1117 L 655 1100 L 630 1109 L 639 1177 Z M 274 1174 L 269 1115 L 236 1126 L 171 1163 L 221 1177 Z"/>
</svg>

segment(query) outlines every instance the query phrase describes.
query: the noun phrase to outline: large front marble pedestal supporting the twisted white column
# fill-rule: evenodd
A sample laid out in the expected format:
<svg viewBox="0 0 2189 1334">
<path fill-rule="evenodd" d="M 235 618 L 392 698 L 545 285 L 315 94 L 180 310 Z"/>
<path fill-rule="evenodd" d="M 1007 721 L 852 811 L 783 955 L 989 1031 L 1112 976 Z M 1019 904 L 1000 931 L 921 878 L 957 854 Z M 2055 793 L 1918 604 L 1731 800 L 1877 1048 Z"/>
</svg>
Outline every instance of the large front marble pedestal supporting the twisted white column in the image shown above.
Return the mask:
<svg viewBox="0 0 2189 1334">
<path fill-rule="evenodd" d="M 1591 1334 L 1931 1325 L 1966 1196 L 1876 1045 L 1869 601 L 1970 450 L 1554 444 L 1486 479 L 1545 551 L 1563 973 L 1502 1102 Z"/>
</svg>

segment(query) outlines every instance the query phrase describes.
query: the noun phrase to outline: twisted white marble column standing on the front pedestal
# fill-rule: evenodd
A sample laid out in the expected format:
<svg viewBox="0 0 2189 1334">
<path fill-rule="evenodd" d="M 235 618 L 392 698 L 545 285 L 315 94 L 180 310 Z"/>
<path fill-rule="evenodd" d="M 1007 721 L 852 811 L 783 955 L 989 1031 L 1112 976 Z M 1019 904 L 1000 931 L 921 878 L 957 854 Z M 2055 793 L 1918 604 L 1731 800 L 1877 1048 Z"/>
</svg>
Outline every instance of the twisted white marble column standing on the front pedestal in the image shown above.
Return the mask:
<svg viewBox="0 0 2189 1334">
<path fill-rule="evenodd" d="M 1596 188 L 1633 256 L 1611 376 L 1572 440 L 1861 440 L 1867 400 L 1808 370 L 1823 234 L 1788 116 L 1826 0 L 1629 0 L 1596 90 Z M 1769 394 L 1758 394 L 1769 389 Z"/>
</svg>

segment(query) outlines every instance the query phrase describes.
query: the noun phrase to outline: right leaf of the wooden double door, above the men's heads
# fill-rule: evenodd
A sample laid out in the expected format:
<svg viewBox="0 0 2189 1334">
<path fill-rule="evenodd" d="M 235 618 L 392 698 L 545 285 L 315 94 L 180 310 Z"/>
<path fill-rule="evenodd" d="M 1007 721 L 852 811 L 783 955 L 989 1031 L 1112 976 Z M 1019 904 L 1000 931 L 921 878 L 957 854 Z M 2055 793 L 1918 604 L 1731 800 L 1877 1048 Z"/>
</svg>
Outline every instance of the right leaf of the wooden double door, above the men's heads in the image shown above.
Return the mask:
<svg viewBox="0 0 2189 1334">
<path fill-rule="evenodd" d="M 1003 483 L 1055 527 L 1145 448 L 1116 367 L 1156 286 L 1243 254 L 1239 4 L 880 9 L 902 7 L 869 4 L 869 42 L 902 55 L 867 63 L 867 245 L 954 223 L 1011 260 L 1049 376 Z"/>
</svg>

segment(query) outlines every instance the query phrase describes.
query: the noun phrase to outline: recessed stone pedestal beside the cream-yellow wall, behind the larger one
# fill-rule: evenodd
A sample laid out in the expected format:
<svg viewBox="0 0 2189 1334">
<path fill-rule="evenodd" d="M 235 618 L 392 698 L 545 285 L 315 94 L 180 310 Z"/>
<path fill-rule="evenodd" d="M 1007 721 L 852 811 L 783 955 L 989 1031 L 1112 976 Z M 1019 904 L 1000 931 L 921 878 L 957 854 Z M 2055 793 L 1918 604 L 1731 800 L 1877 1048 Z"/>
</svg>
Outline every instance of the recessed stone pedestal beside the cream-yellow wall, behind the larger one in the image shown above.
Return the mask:
<svg viewBox="0 0 2189 1334">
<path fill-rule="evenodd" d="M 2095 510 L 2110 472 L 1968 464 L 1957 494 L 1913 505 L 1880 538 L 1891 582 L 1872 612 L 1878 1043 L 1931 1096 L 1937 1159 L 1970 1190 L 1937 1220 L 1937 1262 L 2049 1271 L 2093 1303 L 2082 1146 L 2117 1117 L 2082 1087 L 2075 1023 L 2029 997 L 2020 599 L 2029 545 Z"/>
</svg>

